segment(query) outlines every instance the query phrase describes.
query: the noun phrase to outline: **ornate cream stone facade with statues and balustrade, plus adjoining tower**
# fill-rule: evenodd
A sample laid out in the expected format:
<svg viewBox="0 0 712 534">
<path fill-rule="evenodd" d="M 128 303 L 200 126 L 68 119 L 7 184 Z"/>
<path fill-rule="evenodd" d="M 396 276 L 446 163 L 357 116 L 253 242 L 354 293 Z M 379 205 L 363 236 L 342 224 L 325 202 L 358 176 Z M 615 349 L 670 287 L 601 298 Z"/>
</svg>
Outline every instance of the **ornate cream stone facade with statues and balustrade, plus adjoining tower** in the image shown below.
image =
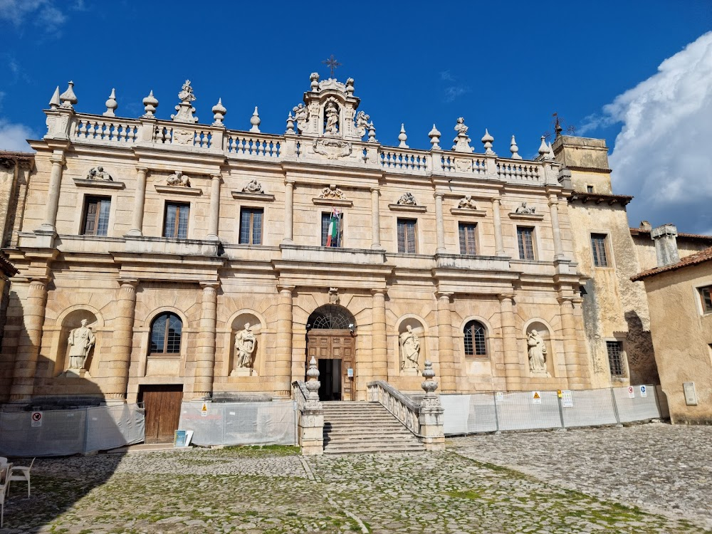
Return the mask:
<svg viewBox="0 0 712 534">
<path fill-rule="evenodd" d="M 626 314 L 647 308 L 602 140 L 528 160 L 486 131 L 476 152 L 459 118 L 452 145 L 434 126 L 431 150 L 404 128 L 387 147 L 353 80 L 317 74 L 283 135 L 178 96 L 162 120 L 152 93 L 138 119 L 53 95 L 5 248 L 0 402 L 285 398 L 311 356 L 323 399 L 420 392 L 425 360 L 446 393 L 628 382 Z"/>
</svg>

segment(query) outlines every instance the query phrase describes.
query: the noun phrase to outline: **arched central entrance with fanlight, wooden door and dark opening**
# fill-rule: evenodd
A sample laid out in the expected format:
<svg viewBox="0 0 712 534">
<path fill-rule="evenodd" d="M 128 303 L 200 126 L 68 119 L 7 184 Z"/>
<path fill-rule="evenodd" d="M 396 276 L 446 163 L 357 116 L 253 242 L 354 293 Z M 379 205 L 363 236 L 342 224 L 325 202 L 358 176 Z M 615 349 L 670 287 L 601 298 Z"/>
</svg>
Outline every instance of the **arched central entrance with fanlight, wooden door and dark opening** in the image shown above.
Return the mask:
<svg viewBox="0 0 712 534">
<path fill-rule="evenodd" d="M 315 357 L 319 367 L 319 400 L 356 399 L 355 328 L 354 316 L 339 305 L 320 306 L 309 315 L 306 357 Z"/>
</svg>

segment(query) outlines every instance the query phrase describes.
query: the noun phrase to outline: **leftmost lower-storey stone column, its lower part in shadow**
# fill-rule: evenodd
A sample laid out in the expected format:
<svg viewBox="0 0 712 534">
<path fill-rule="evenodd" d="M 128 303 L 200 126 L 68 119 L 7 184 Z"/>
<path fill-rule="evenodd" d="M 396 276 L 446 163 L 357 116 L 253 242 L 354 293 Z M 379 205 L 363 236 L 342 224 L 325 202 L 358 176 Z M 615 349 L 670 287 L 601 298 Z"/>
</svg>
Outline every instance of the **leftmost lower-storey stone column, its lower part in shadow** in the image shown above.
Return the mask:
<svg viewBox="0 0 712 534">
<path fill-rule="evenodd" d="M 15 368 L 10 388 L 11 402 L 22 402 L 32 397 L 46 304 L 47 281 L 31 281 L 23 306 L 24 328 L 20 330 L 15 354 Z M 64 342 L 66 344 L 66 340 Z"/>
</svg>

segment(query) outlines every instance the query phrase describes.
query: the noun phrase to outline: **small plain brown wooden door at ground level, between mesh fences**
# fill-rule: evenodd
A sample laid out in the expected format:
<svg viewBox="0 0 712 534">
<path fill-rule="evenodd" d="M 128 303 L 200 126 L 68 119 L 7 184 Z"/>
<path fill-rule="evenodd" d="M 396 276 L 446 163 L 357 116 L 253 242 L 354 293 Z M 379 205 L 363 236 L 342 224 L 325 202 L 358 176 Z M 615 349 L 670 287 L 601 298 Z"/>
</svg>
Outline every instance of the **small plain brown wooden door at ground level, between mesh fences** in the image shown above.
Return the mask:
<svg viewBox="0 0 712 534">
<path fill-rule="evenodd" d="M 182 384 L 141 386 L 146 411 L 145 443 L 170 443 L 178 429 Z"/>
</svg>

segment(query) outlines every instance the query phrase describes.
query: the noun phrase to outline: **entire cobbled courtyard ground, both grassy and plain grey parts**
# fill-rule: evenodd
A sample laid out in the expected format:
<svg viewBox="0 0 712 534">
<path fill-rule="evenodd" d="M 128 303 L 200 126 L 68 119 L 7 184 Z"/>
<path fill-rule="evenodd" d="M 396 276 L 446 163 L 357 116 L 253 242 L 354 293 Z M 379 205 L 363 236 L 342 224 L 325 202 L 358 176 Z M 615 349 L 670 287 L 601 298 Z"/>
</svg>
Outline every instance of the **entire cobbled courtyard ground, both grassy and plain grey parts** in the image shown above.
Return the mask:
<svg viewBox="0 0 712 534">
<path fill-rule="evenodd" d="M 11 533 L 712 532 L 712 427 L 466 436 L 437 454 L 290 447 L 38 459 Z"/>
</svg>

